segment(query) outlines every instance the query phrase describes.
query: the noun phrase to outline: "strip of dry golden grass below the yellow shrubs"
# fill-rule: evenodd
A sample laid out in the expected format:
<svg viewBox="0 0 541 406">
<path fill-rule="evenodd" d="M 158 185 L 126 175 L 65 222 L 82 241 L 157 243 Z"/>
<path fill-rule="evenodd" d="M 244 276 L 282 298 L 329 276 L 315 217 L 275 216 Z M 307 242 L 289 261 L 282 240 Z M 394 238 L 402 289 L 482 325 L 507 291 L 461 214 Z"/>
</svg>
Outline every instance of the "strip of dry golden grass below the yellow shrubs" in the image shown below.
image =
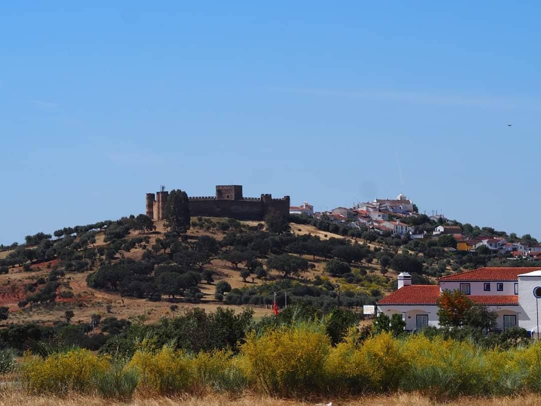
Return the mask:
<svg viewBox="0 0 541 406">
<path fill-rule="evenodd" d="M 63 398 L 53 396 L 32 396 L 21 391 L 9 390 L 0 394 L 0 405 L 28 405 L 28 406 L 97 406 L 97 405 L 137 405 L 137 406 L 296 406 L 296 405 L 315 405 L 318 402 L 327 404 L 333 402 L 333 406 L 341 405 L 379 405 L 379 406 L 429 406 L 429 405 L 472 405 L 488 406 L 498 404 L 499 406 L 533 406 L 541 404 L 541 396 L 526 395 L 501 398 L 459 398 L 456 401 L 447 403 L 436 403 L 428 400 L 426 397 L 417 394 L 399 394 L 392 396 L 367 396 L 351 398 L 344 400 L 334 400 L 331 398 L 322 398 L 312 402 L 283 400 L 267 396 L 245 395 L 240 398 L 225 395 L 209 395 L 203 397 L 184 397 L 167 398 L 158 397 L 153 399 L 135 398 L 129 403 L 118 403 L 97 396 L 71 395 Z"/>
</svg>

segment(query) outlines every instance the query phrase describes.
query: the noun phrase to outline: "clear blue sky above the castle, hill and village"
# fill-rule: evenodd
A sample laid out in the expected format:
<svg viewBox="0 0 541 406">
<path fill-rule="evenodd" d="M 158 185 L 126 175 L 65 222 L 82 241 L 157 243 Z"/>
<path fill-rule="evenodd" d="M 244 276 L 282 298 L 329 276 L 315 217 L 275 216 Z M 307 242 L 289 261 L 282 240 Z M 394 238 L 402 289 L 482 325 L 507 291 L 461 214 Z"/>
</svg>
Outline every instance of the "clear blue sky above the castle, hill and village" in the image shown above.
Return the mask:
<svg viewBox="0 0 541 406">
<path fill-rule="evenodd" d="M 0 8 L 0 243 L 232 182 L 541 237 L 538 2 L 81 4 Z"/>
</svg>

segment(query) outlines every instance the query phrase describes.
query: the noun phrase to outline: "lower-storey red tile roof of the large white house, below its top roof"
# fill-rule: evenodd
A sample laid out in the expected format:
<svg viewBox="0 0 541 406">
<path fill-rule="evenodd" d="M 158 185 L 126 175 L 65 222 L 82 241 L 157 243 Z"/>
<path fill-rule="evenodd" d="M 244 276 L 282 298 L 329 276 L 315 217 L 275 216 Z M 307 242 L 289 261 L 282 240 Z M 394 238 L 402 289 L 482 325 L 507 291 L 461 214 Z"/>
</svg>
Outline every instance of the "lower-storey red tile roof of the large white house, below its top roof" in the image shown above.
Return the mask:
<svg viewBox="0 0 541 406">
<path fill-rule="evenodd" d="M 378 302 L 378 305 L 405 304 L 405 305 L 434 305 L 437 304 L 440 290 L 438 285 L 408 285 L 395 290 Z M 480 305 L 516 305 L 517 294 L 487 294 L 472 295 L 468 298 Z"/>
</svg>

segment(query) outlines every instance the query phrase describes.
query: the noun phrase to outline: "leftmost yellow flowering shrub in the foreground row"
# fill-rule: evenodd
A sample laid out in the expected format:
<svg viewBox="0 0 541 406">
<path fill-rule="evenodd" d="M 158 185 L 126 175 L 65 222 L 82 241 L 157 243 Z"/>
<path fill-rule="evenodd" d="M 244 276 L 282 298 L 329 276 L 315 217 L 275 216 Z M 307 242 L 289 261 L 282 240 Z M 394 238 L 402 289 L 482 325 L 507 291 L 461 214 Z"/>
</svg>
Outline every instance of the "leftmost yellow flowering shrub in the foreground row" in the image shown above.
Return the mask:
<svg viewBox="0 0 541 406">
<path fill-rule="evenodd" d="M 22 375 L 29 390 L 65 394 L 90 389 L 91 377 L 108 368 L 109 361 L 89 350 L 55 353 L 47 358 L 25 353 Z"/>
</svg>

